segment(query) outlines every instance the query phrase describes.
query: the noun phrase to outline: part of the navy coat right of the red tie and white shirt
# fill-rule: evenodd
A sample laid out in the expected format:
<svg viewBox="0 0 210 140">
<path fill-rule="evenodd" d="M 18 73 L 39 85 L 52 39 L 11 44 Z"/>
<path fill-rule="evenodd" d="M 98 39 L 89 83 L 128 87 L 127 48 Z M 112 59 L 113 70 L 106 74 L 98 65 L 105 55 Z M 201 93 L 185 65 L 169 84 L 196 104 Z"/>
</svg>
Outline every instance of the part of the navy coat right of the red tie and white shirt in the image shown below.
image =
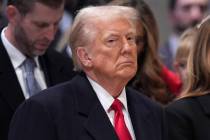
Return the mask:
<svg viewBox="0 0 210 140">
<path fill-rule="evenodd" d="M 131 88 L 128 88 L 127 93 L 128 110 L 136 138 L 140 140 L 165 140 L 166 131 L 163 108 Z"/>
</svg>

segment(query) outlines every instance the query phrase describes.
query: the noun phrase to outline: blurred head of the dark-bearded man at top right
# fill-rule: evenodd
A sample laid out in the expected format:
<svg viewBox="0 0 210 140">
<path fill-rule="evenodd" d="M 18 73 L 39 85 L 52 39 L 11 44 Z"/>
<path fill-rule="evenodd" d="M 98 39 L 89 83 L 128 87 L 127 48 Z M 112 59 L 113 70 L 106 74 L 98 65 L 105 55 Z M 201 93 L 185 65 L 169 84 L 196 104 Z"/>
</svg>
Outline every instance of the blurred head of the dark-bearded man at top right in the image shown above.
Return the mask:
<svg viewBox="0 0 210 140">
<path fill-rule="evenodd" d="M 198 24 L 207 14 L 208 6 L 208 0 L 169 0 L 169 17 L 174 32 L 180 35 Z"/>
</svg>

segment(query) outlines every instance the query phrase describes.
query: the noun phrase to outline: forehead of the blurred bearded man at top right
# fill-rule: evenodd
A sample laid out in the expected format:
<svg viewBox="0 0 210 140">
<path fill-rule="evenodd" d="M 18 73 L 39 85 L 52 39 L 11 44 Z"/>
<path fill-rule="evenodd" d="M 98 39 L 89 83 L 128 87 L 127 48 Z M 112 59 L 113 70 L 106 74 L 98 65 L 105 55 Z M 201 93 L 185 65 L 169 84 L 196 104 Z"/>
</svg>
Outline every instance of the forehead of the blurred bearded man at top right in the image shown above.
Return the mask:
<svg viewBox="0 0 210 140">
<path fill-rule="evenodd" d="M 208 0 L 177 0 L 177 6 L 182 5 L 207 5 Z"/>
</svg>

